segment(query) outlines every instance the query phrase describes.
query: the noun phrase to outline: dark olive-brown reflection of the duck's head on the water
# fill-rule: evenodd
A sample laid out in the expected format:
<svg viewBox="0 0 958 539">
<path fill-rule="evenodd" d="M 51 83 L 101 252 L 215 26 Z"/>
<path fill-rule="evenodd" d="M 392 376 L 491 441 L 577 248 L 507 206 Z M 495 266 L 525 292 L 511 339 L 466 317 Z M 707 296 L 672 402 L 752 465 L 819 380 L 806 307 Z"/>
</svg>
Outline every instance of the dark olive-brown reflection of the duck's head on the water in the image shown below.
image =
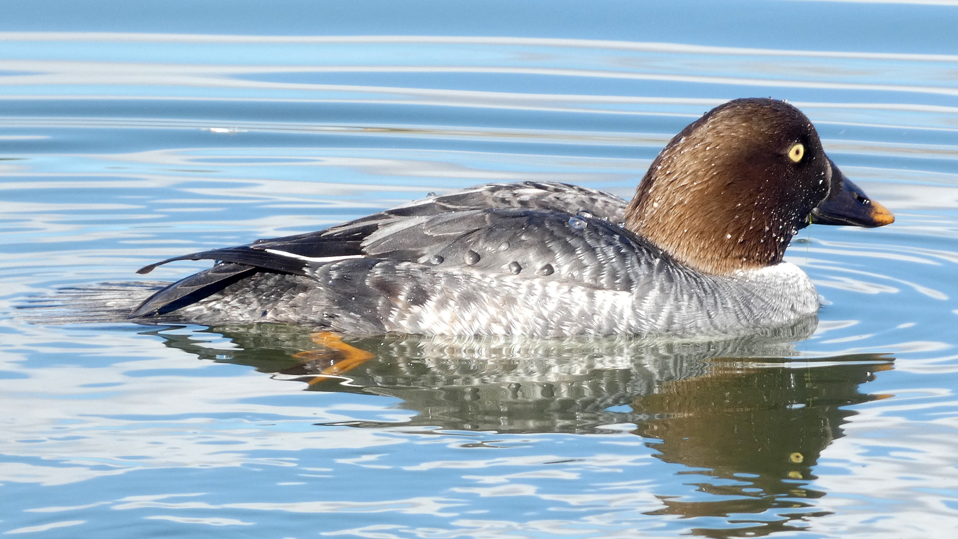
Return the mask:
<svg viewBox="0 0 958 539">
<path fill-rule="evenodd" d="M 853 410 L 840 407 L 881 398 L 858 386 L 891 368 L 887 356 L 855 355 L 815 363 L 780 365 L 713 360 L 708 374 L 663 384 L 655 394 L 632 403 L 634 410 L 654 414 L 637 423 L 635 433 L 648 438 L 667 462 L 696 469 L 700 492 L 716 501 L 688 502 L 663 498 L 655 514 L 684 517 L 755 514 L 774 510 L 778 519 L 739 519 L 736 529 L 701 529 L 708 537 L 758 536 L 803 529 L 792 520 L 806 520 L 803 498 L 824 493 L 807 488 L 812 467 L 823 449 L 841 437 Z M 827 363 L 826 363 L 827 362 Z M 652 445 L 654 444 L 654 445 Z M 789 518 L 791 517 L 791 518 Z M 729 521 L 730 523 L 732 521 Z"/>
</svg>

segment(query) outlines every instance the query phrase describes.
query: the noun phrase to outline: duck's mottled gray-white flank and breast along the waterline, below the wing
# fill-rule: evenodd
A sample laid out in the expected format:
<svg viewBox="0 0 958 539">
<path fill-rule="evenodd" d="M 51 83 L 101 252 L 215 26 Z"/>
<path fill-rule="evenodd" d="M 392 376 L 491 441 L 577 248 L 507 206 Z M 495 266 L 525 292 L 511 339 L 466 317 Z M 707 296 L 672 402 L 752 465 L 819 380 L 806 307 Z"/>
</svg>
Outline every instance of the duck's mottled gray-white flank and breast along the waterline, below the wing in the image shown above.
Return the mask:
<svg viewBox="0 0 958 539">
<path fill-rule="evenodd" d="M 813 289 L 796 274 L 790 282 L 774 275 L 711 277 L 661 259 L 628 266 L 636 283 L 618 292 L 524 273 L 348 260 L 323 266 L 315 280 L 258 273 L 163 319 L 307 323 L 367 335 L 561 337 L 741 332 L 785 324 L 818 306 Z M 795 301 L 796 294 L 805 302 Z"/>
</svg>

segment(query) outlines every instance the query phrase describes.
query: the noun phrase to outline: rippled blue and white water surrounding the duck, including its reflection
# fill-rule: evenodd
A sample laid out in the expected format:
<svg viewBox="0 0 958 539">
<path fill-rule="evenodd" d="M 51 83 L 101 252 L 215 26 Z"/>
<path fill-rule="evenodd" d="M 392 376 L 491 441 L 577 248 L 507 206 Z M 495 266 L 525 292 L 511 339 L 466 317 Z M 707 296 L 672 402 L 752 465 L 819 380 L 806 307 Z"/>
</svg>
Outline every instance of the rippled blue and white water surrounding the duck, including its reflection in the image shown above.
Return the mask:
<svg viewBox="0 0 958 539">
<path fill-rule="evenodd" d="M 0 531 L 950 536 L 958 8 L 939 4 L 5 7 Z M 697 115 L 767 95 L 897 217 L 793 241 L 814 329 L 390 336 L 329 369 L 343 354 L 302 328 L 15 308 L 485 181 L 629 197 Z"/>
</svg>

